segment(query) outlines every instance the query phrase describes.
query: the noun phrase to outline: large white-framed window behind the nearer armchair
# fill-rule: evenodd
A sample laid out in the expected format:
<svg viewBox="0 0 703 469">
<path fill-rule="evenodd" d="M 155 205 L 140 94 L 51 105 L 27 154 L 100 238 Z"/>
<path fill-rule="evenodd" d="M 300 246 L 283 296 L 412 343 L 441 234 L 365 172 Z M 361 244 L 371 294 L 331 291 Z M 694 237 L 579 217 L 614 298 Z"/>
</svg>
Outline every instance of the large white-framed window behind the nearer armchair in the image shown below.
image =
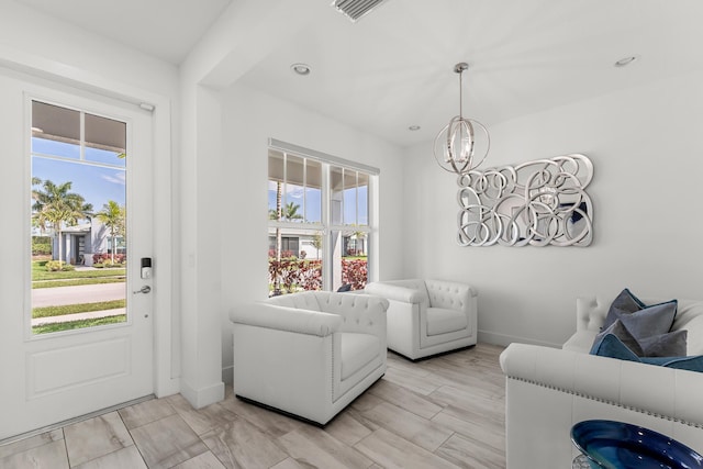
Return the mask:
<svg viewBox="0 0 703 469">
<path fill-rule="evenodd" d="M 372 259 L 378 170 L 271 141 L 268 281 L 271 295 L 360 290 Z"/>
</svg>

